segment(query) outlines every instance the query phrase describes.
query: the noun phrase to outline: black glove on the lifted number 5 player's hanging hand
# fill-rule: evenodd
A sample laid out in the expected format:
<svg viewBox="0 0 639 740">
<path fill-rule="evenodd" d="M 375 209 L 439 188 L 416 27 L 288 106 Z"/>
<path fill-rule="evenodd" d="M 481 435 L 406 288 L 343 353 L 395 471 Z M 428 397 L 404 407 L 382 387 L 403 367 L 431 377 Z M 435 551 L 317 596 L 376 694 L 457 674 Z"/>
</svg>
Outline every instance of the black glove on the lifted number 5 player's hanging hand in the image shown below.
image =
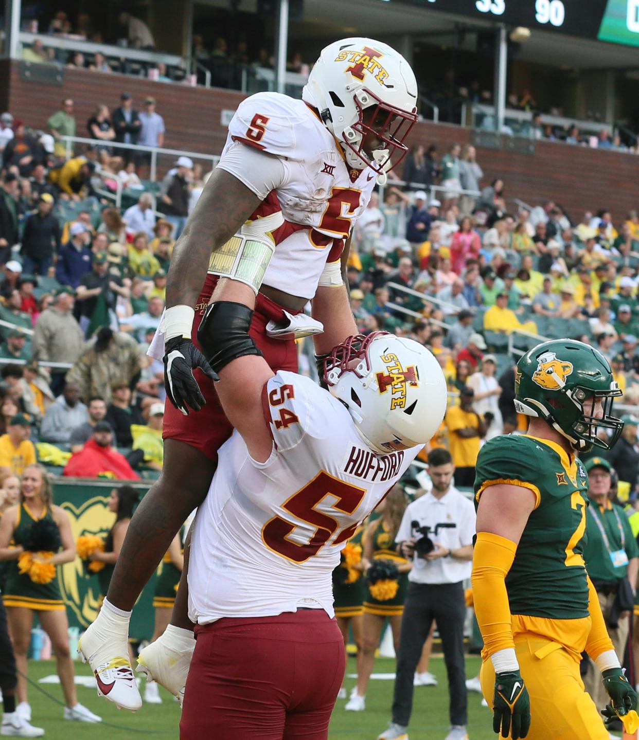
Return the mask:
<svg viewBox="0 0 639 740">
<path fill-rule="evenodd" d="M 201 369 L 213 382 L 219 380 L 218 374 L 192 340 L 173 337 L 164 344 L 164 388 L 173 406 L 187 416 L 189 406 L 193 411 L 199 411 L 207 403 L 193 377 L 195 368 Z"/>
</svg>

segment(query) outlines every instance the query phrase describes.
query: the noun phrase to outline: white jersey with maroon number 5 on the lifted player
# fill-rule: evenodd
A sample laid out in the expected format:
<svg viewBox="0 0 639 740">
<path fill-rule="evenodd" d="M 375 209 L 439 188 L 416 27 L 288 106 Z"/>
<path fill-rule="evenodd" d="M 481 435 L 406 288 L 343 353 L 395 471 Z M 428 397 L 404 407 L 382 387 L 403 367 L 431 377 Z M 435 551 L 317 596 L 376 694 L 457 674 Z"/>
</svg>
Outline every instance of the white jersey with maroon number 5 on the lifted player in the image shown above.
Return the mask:
<svg viewBox="0 0 639 740">
<path fill-rule="evenodd" d="M 324 266 L 340 258 L 343 240 L 366 209 L 375 172 L 349 169 L 318 115 L 303 101 L 278 92 L 258 92 L 241 102 L 218 166 L 224 169 L 224 156 L 242 146 L 275 155 L 284 167 L 276 197 L 255 212 L 281 209 L 284 216 L 284 225 L 274 233 L 277 246 L 264 285 L 312 298 Z"/>
</svg>

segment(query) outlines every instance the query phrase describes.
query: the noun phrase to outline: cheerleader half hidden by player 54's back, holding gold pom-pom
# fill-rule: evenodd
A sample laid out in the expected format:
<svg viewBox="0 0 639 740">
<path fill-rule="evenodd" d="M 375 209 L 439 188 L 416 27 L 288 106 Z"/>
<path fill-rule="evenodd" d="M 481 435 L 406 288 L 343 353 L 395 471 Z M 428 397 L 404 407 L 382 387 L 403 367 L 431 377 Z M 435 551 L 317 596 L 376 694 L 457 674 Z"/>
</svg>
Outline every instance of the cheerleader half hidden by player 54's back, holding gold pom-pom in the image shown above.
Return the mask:
<svg viewBox="0 0 639 740">
<path fill-rule="evenodd" d="M 335 617 L 338 628 L 344 636 L 344 647 L 348 645 L 349 627 L 357 646 L 357 667 L 360 670 L 362 656 L 362 622 L 364 619 L 364 597 L 366 579 L 364 571 L 367 561 L 362 556 L 362 535 L 364 527 L 360 526 L 348 540 L 342 551 L 341 562 L 333 571 L 332 593 L 335 605 Z M 341 687 L 338 699 L 346 699 L 346 689 Z"/>
</svg>

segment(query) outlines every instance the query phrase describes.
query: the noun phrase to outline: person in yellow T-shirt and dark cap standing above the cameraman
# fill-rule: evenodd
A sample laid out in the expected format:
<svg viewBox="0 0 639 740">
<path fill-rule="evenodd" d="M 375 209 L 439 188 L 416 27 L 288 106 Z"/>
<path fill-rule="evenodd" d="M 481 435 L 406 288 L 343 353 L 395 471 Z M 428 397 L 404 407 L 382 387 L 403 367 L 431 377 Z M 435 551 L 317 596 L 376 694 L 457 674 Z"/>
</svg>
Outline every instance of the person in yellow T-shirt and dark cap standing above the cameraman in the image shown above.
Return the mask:
<svg viewBox="0 0 639 740">
<path fill-rule="evenodd" d="M 463 488 L 472 488 L 475 482 L 475 463 L 481 440 L 486 436 L 486 423 L 472 408 L 474 400 L 472 388 L 462 388 L 459 406 L 451 406 L 446 412 L 455 485 Z"/>
</svg>

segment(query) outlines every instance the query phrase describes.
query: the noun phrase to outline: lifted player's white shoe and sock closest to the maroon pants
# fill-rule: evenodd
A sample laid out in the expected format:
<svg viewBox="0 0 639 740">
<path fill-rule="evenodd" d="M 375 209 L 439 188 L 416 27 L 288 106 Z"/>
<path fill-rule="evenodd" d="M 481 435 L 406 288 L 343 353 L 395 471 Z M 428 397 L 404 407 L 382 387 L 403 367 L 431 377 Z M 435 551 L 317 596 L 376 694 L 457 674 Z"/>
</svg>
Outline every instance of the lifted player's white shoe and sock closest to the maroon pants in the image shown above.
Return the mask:
<svg viewBox="0 0 639 740">
<path fill-rule="evenodd" d="M 193 632 L 169 625 L 155 642 L 140 651 L 136 670 L 164 686 L 182 706 L 193 650 Z"/>
</svg>

